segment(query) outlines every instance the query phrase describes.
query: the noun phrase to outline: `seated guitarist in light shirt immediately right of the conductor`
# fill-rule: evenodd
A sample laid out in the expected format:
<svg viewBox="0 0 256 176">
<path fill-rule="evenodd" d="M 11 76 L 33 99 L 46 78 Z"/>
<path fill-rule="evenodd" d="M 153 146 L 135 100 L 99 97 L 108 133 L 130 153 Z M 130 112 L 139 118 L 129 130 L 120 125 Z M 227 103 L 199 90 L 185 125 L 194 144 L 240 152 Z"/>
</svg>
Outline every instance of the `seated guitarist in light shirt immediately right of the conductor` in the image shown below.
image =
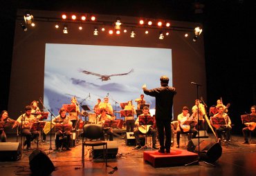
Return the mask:
<svg viewBox="0 0 256 176">
<path fill-rule="evenodd" d="M 188 135 L 188 140 L 190 140 L 191 138 L 196 137 L 197 134 L 197 130 L 195 128 L 195 126 L 193 126 L 192 124 L 190 125 L 183 125 L 184 121 L 187 120 L 193 120 L 194 118 L 194 114 L 190 117 L 190 113 L 188 113 L 188 107 L 184 106 L 182 109 L 182 113 L 178 115 L 178 121 L 179 121 L 179 126 L 177 126 L 177 135 L 176 135 L 176 141 L 177 141 L 177 145 L 176 148 L 179 148 L 180 146 L 180 137 L 181 134 L 189 134 Z M 197 119 L 196 119 L 197 121 Z"/>
</svg>

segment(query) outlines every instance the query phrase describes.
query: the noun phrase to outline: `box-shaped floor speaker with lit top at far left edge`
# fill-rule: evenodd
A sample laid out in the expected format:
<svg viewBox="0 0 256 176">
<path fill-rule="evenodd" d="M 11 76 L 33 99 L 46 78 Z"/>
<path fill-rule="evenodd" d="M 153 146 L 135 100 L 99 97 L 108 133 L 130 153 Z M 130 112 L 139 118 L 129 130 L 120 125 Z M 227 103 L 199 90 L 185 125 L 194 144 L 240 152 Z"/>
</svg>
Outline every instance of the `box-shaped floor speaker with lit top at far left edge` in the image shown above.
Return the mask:
<svg viewBox="0 0 256 176">
<path fill-rule="evenodd" d="M 21 159 L 19 142 L 0 142 L 0 161 L 17 161 Z"/>
</svg>

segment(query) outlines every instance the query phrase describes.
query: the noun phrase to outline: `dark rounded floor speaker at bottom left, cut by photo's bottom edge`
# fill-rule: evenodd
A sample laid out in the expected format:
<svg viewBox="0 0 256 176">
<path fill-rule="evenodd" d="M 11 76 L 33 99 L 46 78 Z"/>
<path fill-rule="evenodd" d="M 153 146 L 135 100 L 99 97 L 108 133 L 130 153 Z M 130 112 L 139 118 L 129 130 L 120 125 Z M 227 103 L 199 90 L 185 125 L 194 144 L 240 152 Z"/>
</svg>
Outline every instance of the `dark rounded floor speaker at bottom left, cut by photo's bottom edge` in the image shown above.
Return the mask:
<svg viewBox="0 0 256 176">
<path fill-rule="evenodd" d="M 50 175 L 55 170 L 51 159 L 38 148 L 29 155 L 29 165 L 31 172 L 35 175 Z"/>
</svg>

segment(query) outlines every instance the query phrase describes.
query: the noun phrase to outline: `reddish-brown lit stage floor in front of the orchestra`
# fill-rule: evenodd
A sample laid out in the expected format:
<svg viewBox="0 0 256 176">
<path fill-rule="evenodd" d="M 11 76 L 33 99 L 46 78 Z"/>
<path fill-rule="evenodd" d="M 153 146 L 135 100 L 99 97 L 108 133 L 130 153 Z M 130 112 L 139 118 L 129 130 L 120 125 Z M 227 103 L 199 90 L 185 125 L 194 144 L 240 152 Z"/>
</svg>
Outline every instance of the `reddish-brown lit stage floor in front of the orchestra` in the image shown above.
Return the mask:
<svg viewBox="0 0 256 176">
<path fill-rule="evenodd" d="M 151 164 L 143 161 L 143 151 L 133 150 L 134 146 L 127 146 L 125 139 L 115 137 L 118 141 L 118 155 L 116 159 L 108 159 L 109 167 L 104 166 L 102 159 L 92 159 L 86 155 L 85 167 L 82 168 L 81 156 L 82 146 L 80 143 L 71 148 L 71 151 L 55 152 L 48 150 L 50 137 L 47 136 L 46 143 L 40 143 L 39 149 L 44 150 L 53 162 L 56 170 L 51 173 L 53 176 L 68 175 L 122 175 L 122 176 L 149 176 L 149 175 L 256 175 L 256 147 L 250 144 L 241 144 L 244 140 L 241 136 L 232 136 L 232 143 L 228 146 L 222 145 L 222 155 L 216 166 L 210 166 L 204 162 L 190 166 L 175 166 L 165 168 L 154 168 Z M 52 137 L 54 139 L 54 136 Z M 214 137 L 210 134 L 210 139 Z M 180 149 L 186 150 L 184 137 L 181 137 Z M 256 140 L 256 139 L 253 139 Z M 15 142 L 16 137 L 8 137 L 8 141 Z M 186 140 L 188 144 L 188 140 Z M 37 144 L 33 143 L 32 148 Z M 52 141 L 52 148 L 55 148 Z M 147 149 L 150 150 L 150 149 Z M 30 175 L 29 155 L 33 150 L 23 150 L 22 158 L 16 162 L 0 162 L 1 175 Z M 118 170 L 114 168 L 117 167 Z"/>
</svg>

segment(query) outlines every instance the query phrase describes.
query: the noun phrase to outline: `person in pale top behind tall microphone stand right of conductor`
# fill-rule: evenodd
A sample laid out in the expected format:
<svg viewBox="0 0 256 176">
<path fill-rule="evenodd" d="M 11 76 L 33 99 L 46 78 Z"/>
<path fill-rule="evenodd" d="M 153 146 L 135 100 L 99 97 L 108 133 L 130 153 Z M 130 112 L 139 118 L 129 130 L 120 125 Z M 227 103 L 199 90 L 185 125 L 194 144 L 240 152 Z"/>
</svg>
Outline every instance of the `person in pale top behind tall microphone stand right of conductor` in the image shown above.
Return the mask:
<svg viewBox="0 0 256 176">
<path fill-rule="evenodd" d="M 199 110 L 198 108 L 199 107 Z M 203 104 L 200 103 L 199 99 L 196 99 L 194 101 L 194 106 L 192 107 L 192 113 L 194 114 L 194 117 L 196 117 L 196 120 L 199 119 L 198 123 L 199 126 L 196 126 L 196 130 L 204 130 L 205 129 L 205 121 L 203 119 L 203 115 L 205 115 L 205 107 L 203 106 Z M 199 113 L 199 115 L 198 115 Z M 197 129 L 199 127 L 199 129 Z"/>
</svg>

